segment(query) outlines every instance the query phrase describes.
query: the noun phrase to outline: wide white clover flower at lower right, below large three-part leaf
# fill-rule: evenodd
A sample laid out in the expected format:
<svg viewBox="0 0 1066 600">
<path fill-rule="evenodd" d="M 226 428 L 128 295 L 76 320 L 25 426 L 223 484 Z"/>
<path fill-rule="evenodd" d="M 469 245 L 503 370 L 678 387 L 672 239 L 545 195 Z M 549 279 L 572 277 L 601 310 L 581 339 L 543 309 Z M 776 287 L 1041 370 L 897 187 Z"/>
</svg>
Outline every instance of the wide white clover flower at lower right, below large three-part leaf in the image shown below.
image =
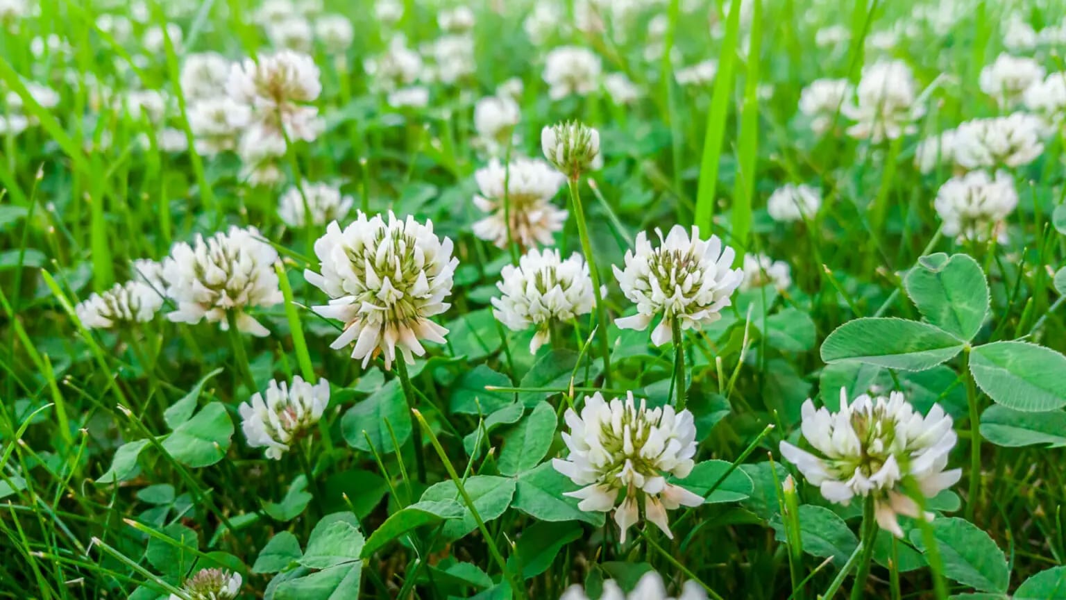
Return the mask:
<svg viewBox="0 0 1066 600">
<path fill-rule="evenodd" d="M 839 412 L 814 410 L 808 399 L 802 414 L 803 437 L 818 454 L 782 441 L 781 456 L 829 502 L 846 505 L 855 496 L 872 495 L 877 524 L 897 537 L 903 537 L 898 515 L 923 517 L 904 485 L 933 498 L 962 476 L 960 469 L 944 471 L 957 438 L 940 405 L 922 416 L 902 393 L 892 392 L 887 398 L 863 394 L 849 406 L 841 389 Z"/>
</svg>

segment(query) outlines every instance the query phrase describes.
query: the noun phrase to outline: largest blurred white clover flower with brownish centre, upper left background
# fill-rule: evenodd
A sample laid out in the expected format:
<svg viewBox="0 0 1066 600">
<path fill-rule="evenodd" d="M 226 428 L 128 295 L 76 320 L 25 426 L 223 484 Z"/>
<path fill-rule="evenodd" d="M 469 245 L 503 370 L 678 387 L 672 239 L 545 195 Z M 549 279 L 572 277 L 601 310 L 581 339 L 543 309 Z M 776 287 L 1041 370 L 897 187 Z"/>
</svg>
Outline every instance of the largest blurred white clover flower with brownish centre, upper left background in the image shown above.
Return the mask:
<svg viewBox="0 0 1066 600">
<path fill-rule="evenodd" d="M 324 124 L 318 109 L 308 106 L 322 93 L 319 67 L 307 54 L 280 50 L 260 54 L 259 62 L 246 59 L 229 72 L 226 92 L 233 101 L 252 111 L 255 135 L 284 141 L 313 141 Z"/>
</svg>

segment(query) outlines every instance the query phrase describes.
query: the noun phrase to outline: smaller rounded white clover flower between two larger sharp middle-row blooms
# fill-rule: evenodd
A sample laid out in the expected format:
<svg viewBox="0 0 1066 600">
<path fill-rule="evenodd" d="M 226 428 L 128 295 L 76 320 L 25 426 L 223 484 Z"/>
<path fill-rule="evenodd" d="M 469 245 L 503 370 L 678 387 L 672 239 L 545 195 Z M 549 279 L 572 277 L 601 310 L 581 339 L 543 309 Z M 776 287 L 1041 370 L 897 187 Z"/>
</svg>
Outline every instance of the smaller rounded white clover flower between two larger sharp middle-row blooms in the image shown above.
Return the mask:
<svg viewBox="0 0 1066 600">
<path fill-rule="evenodd" d="M 587 315 L 595 303 L 588 265 L 576 252 L 563 260 L 559 250 L 530 250 L 518 267 L 504 266 L 501 278 L 496 287 L 503 296 L 492 298 L 492 315 L 512 331 L 536 328 L 531 354 L 551 340 L 553 322 Z"/>
</svg>

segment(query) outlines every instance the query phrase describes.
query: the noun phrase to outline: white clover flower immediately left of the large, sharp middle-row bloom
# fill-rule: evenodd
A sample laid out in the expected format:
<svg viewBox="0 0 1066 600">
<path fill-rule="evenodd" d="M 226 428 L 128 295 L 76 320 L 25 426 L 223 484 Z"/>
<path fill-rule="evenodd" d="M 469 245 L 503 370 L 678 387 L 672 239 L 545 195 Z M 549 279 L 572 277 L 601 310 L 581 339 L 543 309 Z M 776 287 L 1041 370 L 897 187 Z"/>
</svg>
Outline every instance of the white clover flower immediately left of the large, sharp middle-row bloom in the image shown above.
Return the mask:
<svg viewBox="0 0 1066 600">
<path fill-rule="evenodd" d="M 232 311 L 240 331 L 269 335 L 270 331 L 246 312 L 282 300 L 274 271 L 277 251 L 258 237 L 255 227 L 232 226 L 206 239 L 196 236 L 192 246 L 175 243 L 163 260 L 163 280 L 166 296 L 178 309 L 166 317 L 189 323 L 206 318 L 227 330 L 226 312 Z"/>
</svg>

